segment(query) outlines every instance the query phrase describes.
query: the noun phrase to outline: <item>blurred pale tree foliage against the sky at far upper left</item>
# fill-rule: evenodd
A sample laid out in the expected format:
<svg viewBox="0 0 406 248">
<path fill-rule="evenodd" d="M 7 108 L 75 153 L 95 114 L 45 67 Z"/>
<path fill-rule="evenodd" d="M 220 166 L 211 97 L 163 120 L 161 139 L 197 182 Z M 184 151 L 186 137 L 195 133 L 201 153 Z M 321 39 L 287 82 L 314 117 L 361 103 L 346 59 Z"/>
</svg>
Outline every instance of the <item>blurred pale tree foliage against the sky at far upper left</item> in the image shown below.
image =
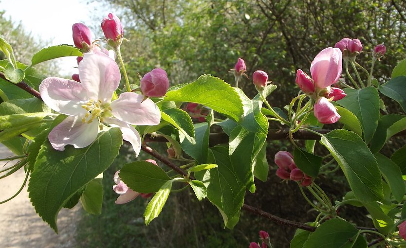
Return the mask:
<svg viewBox="0 0 406 248">
<path fill-rule="evenodd" d="M 48 42 L 38 40 L 38 38 L 28 33 L 21 23 L 14 23 L 11 18 L 4 17 L 4 11 L 0 11 L 0 35 L 10 43 L 16 59 L 26 65 L 31 64 L 32 56 L 44 47 Z M 4 59 L 0 53 L 0 59 Z M 55 61 L 46 61 L 38 64 L 35 68 L 45 75 L 58 75 L 59 67 Z"/>
</svg>

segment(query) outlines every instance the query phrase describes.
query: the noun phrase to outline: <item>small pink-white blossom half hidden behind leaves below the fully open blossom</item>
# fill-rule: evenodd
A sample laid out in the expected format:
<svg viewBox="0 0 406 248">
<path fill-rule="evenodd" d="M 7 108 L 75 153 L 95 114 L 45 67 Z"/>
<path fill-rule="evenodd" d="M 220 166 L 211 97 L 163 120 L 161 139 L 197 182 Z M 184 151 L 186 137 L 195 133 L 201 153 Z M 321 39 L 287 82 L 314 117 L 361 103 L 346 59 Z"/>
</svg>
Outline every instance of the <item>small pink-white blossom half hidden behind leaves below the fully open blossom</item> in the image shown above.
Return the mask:
<svg viewBox="0 0 406 248">
<path fill-rule="evenodd" d="M 155 160 L 147 159 L 146 161 L 158 166 L 158 164 L 156 163 Z M 132 189 L 130 189 L 127 186 L 127 184 L 125 184 L 121 180 L 119 173 L 120 173 L 120 171 L 116 171 L 114 173 L 114 177 L 113 177 L 113 180 L 116 184 L 116 185 L 113 185 L 113 190 L 115 193 L 120 194 L 120 196 L 118 196 L 117 200 L 114 202 L 115 204 L 127 203 L 127 202 L 132 201 L 133 199 L 137 198 L 138 195 L 141 195 L 141 197 L 143 197 L 143 198 L 148 198 L 151 195 L 153 195 L 153 193 L 138 193 L 136 191 L 133 191 Z"/>
</svg>

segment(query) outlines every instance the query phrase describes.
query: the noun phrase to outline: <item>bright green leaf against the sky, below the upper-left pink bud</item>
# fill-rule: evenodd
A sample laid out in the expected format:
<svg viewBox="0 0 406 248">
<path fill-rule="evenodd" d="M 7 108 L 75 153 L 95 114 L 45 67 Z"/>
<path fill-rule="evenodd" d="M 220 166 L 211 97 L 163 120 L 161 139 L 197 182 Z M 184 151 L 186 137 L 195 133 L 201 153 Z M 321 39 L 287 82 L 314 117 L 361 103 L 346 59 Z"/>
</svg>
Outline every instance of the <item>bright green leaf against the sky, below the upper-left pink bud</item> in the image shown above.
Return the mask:
<svg viewBox="0 0 406 248">
<path fill-rule="evenodd" d="M 67 57 L 67 56 L 83 56 L 80 49 L 71 45 L 58 45 L 41 49 L 38 53 L 34 54 L 31 59 L 31 66 L 37 65 L 41 62 L 51 60 L 54 58 Z"/>
</svg>

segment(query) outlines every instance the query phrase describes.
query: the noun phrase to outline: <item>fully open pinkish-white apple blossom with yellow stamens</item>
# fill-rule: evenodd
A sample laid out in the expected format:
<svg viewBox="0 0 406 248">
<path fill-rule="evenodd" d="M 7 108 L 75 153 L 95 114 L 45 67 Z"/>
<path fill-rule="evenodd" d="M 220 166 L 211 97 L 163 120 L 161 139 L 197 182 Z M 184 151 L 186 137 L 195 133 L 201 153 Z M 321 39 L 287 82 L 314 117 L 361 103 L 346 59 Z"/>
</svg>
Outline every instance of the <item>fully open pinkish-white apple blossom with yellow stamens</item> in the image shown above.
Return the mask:
<svg viewBox="0 0 406 248">
<path fill-rule="evenodd" d="M 90 145 L 103 124 L 119 127 L 123 139 L 130 142 L 136 156 L 141 149 L 141 137 L 131 125 L 157 125 L 161 112 L 150 99 L 134 92 L 122 93 L 111 102 L 120 83 L 117 64 L 104 53 L 85 53 L 79 66 L 81 83 L 48 77 L 39 86 L 42 100 L 52 109 L 68 115 L 49 133 L 52 146 L 63 151 Z"/>
</svg>

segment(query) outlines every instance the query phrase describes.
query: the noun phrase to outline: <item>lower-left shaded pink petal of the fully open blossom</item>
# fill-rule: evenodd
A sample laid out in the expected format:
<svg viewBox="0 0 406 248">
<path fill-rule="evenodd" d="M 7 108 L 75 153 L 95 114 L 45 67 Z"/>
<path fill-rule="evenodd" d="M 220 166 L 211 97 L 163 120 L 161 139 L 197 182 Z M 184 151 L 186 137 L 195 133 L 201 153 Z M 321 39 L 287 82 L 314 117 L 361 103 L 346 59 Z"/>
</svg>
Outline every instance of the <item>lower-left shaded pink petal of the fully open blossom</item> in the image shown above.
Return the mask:
<svg viewBox="0 0 406 248">
<path fill-rule="evenodd" d="M 55 150 L 63 151 L 65 150 L 65 145 L 68 144 L 74 145 L 75 148 L 83 148 L 90 145 L 96 139 L 99 122 L 83 123 L 83 116 L 68 116 L 52 129 L 48 139 Z"/>
</svg>

